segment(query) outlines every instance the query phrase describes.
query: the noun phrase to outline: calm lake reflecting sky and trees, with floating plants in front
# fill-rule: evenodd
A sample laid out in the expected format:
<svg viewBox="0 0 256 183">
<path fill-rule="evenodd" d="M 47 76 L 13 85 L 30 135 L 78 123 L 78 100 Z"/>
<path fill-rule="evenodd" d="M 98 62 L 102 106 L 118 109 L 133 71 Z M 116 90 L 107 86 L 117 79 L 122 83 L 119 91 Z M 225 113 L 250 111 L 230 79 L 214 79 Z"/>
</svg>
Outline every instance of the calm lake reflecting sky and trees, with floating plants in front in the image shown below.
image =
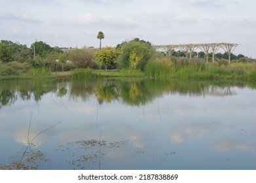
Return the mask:
<svg viewBox="0 0 256 183">
<path fill-rule="evenodd" d="M 255 82 L 0 82 L 0 169 L 256 169 Z"/>
</svg>

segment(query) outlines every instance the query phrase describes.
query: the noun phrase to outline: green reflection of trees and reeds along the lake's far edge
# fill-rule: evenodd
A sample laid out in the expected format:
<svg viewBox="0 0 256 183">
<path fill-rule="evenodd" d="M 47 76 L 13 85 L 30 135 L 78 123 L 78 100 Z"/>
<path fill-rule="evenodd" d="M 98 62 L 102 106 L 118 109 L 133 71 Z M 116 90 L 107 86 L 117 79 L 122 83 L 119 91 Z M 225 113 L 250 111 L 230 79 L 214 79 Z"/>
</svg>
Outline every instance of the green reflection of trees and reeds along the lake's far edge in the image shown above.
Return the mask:
<svg viewBox="0 0 256 183">
<path fill-rule="evenodd" d="M 232 87 L 255 89 L 251 83 L 200 82 L 190 80 L 152 80 L 130 79 L 118 80 L 105 78 L 101 80 L 3 80 L 0 85 L 0 108 L 13 105 L 16 101 L 41 101 L 46 93 L 58 97 L 68 95 L 71 99 L 83 101 L 96 97 L 98 103 L 122 101 L 128 105 L 145 105 L 164 93 L 179 93 L 191 97 L 201 95 L 228 96 L 236 95 Z"/>
</svg>

